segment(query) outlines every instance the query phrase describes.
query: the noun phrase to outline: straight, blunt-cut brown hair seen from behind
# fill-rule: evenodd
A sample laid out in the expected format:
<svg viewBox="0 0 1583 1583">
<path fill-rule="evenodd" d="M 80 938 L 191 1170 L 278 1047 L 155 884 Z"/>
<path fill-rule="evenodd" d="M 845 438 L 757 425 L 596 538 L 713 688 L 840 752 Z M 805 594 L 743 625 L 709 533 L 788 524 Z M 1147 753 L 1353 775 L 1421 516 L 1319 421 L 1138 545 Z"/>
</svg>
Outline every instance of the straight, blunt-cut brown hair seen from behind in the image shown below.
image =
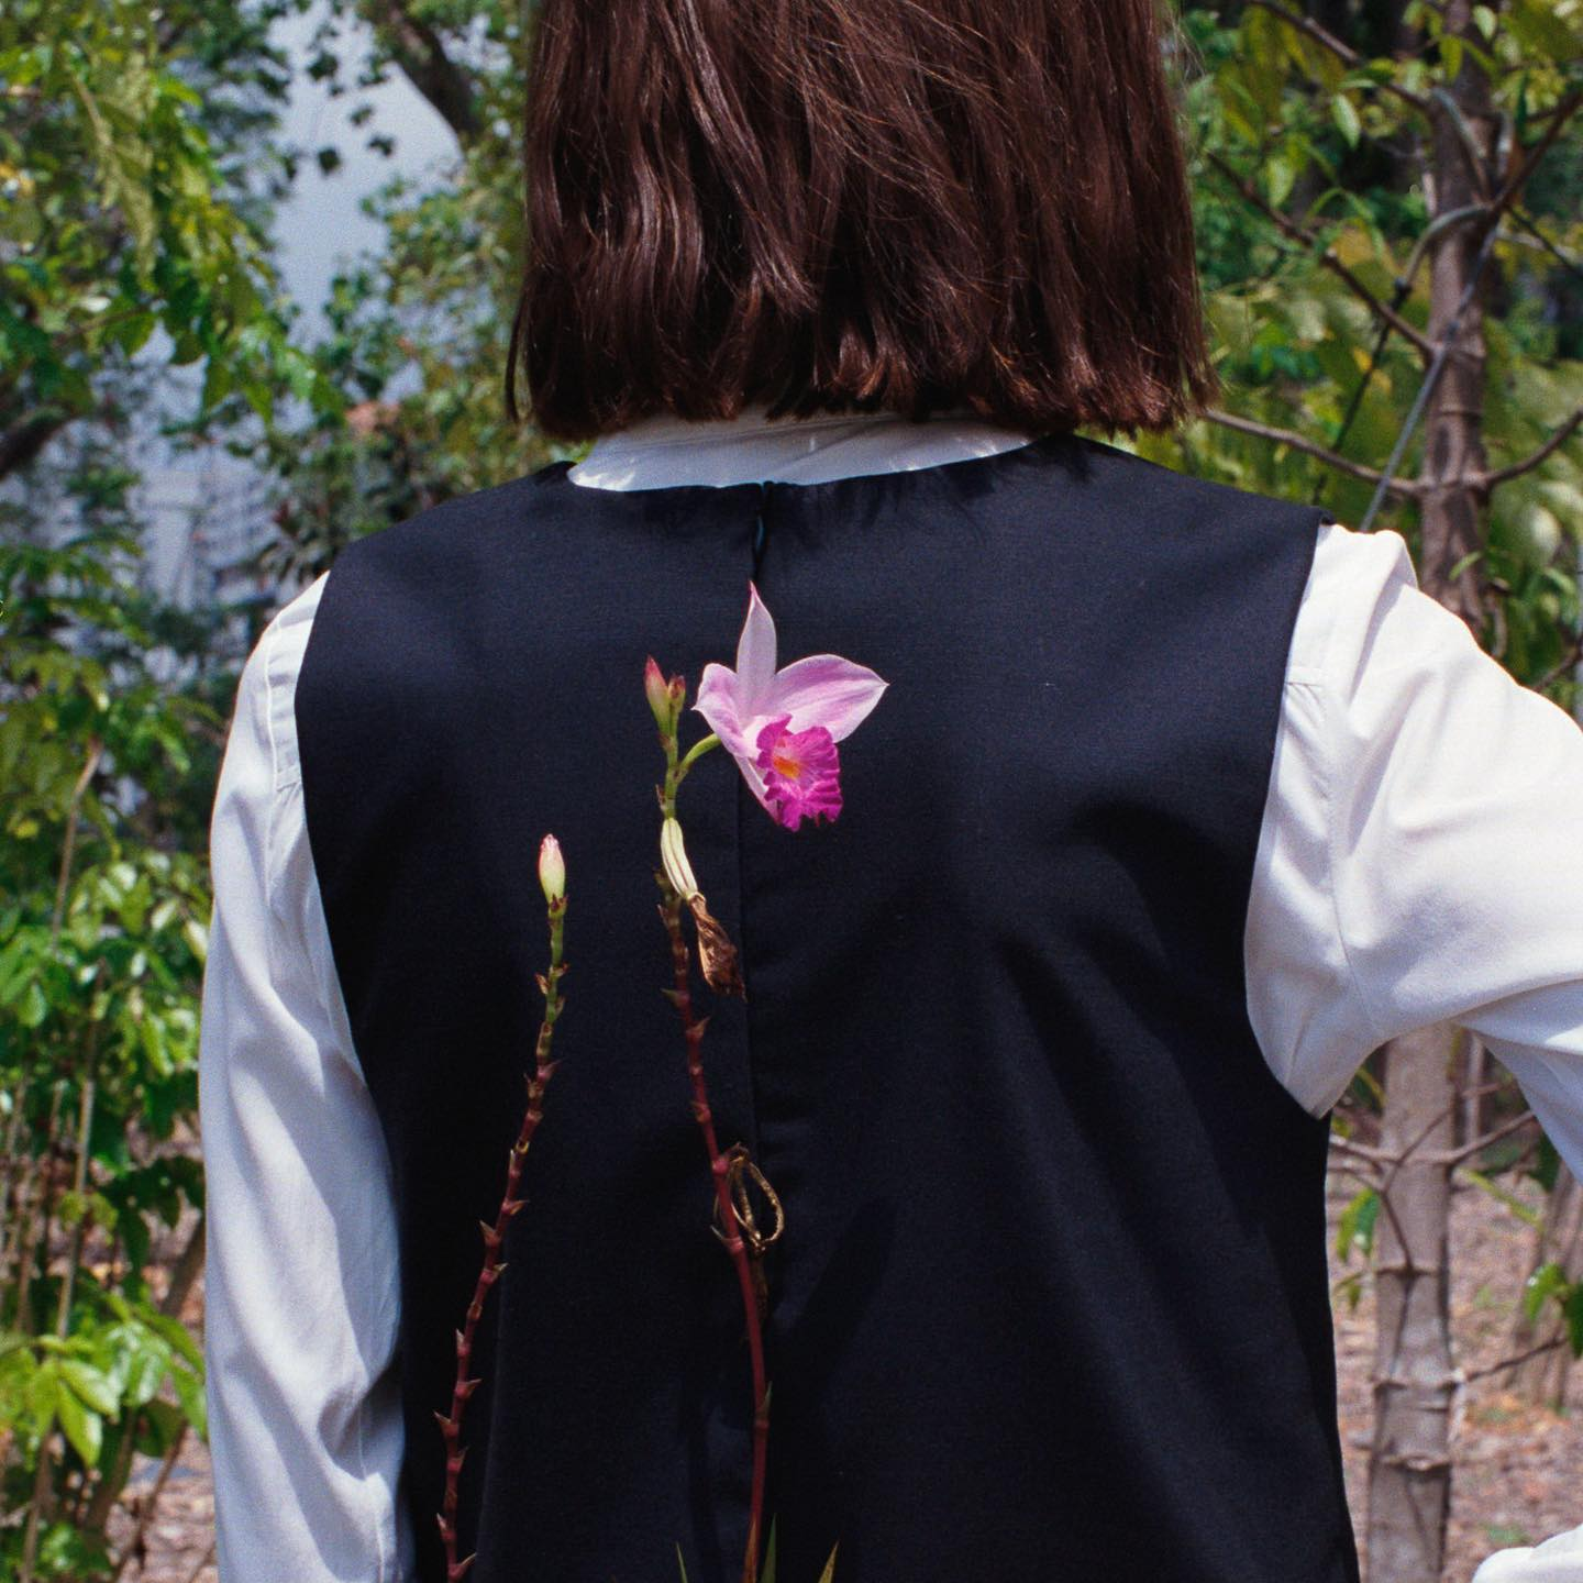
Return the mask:
<svg viewBox="0 0 1583 1583">
<path fill-rule="evenodd" d="M 1214 391 L 1157 0 L 541 0 L 507 407 L 969 407 L 1165 429 Z"/>
</svg>

